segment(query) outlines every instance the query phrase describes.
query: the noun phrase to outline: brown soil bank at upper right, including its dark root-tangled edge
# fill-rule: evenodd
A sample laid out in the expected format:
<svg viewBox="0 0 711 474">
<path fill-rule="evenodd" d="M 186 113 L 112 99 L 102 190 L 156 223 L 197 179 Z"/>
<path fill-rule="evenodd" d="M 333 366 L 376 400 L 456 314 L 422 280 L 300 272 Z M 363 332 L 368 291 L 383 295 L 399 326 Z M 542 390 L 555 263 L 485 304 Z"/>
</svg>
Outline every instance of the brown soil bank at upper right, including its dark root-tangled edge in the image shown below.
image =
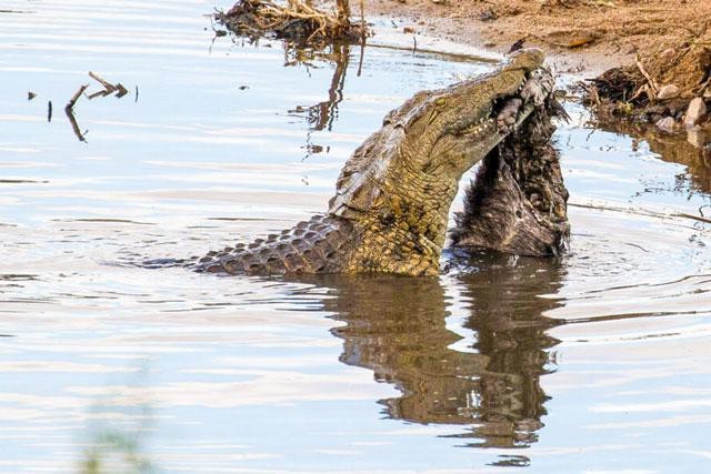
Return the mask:
<svg viewBox="0 0 711 474">
<path fill-rule="evenodd" d="M 600 74 L 591 102 L 603 108 L 612 104 L 618 117 L 679 120 L 693 97 L 704 97 L 711 105 L 711 0 L 367 3 L 370 14 L 403 18 L 404 30 L 414 33 L 501 52 L 520 41 L 540 47 L 561 72 Z M 658 92 L 668 84 L 678 87 L 679 93 L 659 100 Z"/>
</svg>

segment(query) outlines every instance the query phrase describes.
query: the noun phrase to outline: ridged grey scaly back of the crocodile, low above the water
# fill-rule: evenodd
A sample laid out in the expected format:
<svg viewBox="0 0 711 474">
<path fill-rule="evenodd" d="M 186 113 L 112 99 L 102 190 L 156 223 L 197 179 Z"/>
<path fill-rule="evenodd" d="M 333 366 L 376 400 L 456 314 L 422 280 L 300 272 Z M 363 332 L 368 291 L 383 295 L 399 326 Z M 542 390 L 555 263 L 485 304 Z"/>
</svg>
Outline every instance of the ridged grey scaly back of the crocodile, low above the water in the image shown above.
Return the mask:
<svg viewBox="0 0 711 474">
<path fill-rule="evenodd" d="M 336 273 L 348 261 L 352 241 L 348 220 L 314 215 L 280 234 L 210 252 L 198 261 L 196 270 L 248 275 Z"/>
</svg>

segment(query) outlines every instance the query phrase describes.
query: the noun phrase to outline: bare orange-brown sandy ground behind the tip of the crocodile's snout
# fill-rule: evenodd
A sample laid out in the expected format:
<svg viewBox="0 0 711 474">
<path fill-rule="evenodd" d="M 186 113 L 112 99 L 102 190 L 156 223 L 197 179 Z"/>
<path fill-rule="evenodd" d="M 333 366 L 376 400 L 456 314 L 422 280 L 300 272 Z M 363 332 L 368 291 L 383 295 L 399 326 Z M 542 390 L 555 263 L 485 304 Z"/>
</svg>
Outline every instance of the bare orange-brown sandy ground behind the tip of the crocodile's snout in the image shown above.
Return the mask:
<svg viewBox="0 0 711 474">
<path fill-rule="evenodd" d="M 709 0 L 368 0 L 368 11 L 499 51 L 523 39 L 597 72 L 711 32 Z"/>
</svg>

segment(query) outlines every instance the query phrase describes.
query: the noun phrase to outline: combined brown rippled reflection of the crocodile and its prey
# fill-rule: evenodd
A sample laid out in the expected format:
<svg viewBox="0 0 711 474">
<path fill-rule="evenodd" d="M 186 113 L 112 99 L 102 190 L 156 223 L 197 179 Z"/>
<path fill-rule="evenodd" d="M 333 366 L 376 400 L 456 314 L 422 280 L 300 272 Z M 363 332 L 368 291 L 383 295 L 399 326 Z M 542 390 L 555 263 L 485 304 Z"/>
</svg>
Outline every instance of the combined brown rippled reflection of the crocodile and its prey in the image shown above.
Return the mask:
<svg viewBox="0 0 711 474">
<path fill-rule="evenodd" d="M 377 381 L 403 393 L 381 401 L 389 416 L 468 425 L 455 436 L 469 446 L 535 442 L 548 400 L 540 377 L 549 370 L 548 350 L 559 342 L 545 333 L 559 322 L 542 315 L 559 303 L 539 295 L 557 291 L 562 270 L 541 259 L 511 266 L 509 259 L 477 258 L 480 270 L 453 282 L 457 304 L 437 278 L 320 281 L 337 294 L 324 309 L 346 323 L 332 330 L 343 340 L 341 361 L 372 370 Z M 454 350 L 462 336 L 448 329 L 447 319 L 462 311 L 474 342 Z"/>
</svg>

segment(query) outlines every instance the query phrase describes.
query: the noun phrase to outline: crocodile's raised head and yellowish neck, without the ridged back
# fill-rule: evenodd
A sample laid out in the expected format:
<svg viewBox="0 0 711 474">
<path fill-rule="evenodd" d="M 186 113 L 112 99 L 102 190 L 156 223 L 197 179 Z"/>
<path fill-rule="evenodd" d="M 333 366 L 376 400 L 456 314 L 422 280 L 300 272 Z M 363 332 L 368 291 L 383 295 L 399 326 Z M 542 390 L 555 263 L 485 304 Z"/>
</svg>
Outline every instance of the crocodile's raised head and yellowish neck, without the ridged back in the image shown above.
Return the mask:
<svg viewBox="0 0 711 474">
<path fill-rule="evenodd" d="M 351 270 L 437 273 L 463 173 L 552 90 L 543 59 L 538 49 L 518 51 L 489 74 L 420 92 L 385 117 L 346 163 L 330 202 L 331 215 L 365 229 Z"/>
</svg>

